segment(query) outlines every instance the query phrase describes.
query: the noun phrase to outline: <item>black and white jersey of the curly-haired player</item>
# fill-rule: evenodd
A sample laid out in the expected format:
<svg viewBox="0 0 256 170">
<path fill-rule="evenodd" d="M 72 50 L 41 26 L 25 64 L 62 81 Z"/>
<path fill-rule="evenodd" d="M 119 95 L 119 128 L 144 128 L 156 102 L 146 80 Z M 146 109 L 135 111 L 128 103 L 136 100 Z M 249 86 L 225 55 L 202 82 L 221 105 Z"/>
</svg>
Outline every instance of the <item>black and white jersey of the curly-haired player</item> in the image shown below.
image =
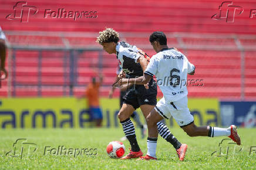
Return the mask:
<svg viewBox="0 0 256 170">
<path fill-rule="evenodd" d="M 116 57 L 122 67 L 126 77 L 134 78 L 136 76 L 143 76 L 143 70 L 140 63 L 137 63 L 140 54 L 136 46 L 129 45 L 126 42 L 119 42 L 116 45 Z"/>
</svg>

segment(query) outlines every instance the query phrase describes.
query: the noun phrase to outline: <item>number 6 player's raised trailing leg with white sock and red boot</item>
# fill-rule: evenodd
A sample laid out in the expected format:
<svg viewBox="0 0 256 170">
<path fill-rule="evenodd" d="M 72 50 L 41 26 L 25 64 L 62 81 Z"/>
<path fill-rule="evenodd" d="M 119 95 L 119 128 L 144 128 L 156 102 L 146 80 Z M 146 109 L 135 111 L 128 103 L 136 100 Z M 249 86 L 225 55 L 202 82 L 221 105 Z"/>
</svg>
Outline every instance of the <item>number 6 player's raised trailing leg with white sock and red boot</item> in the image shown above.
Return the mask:
<svg viewBox="0 0 256 170">
<path fill-rule="evenodd" d="M 237 134 L 237 127 L 231 125 L 228 128 L 219 128 L 219 127 L 197 127 L 194 122 L 186 126 L 181 127 L 190 137 L 204 136 L 204 137 L 230 137 L 238 145 L 241 144 L 239 135 Z"/>
</svg>

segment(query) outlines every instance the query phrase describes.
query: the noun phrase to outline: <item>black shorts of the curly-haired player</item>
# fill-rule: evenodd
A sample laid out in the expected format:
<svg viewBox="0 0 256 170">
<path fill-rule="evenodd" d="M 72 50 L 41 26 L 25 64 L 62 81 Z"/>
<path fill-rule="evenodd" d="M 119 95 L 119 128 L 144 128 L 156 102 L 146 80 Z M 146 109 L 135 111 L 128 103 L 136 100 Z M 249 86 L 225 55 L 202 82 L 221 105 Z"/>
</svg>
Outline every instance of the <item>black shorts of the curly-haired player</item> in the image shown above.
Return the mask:
<svg viewBox="0 0 256 170">
<path fill-rule="evenodd" d="M 149 104 L 156 106 L 157 100 L 157 86 L 156 81 L 150 80 L 149 89 L 146 89 L 144 85 L 136 85 L 126 91 L 123 96 L 123 103 L 132 105 L 135 109 L 139 108 L 143 104 Z"/>
</svg>

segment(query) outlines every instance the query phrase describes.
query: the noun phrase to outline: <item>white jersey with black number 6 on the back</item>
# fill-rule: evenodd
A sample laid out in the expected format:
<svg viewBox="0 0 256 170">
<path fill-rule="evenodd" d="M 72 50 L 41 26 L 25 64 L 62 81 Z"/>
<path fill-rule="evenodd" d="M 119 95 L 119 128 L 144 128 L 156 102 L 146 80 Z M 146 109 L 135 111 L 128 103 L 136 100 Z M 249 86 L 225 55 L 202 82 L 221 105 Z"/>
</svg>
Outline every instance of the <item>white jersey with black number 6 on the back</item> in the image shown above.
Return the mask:
<svg viewBox="0 0 256 170">
<path fill-rule="evenodd" d="M 183 53 L 164 48 L 151 57 L 144 73 L 156 76 L 164 100 L 170 103 L 187 96 L 187 74 L 194 69 Z"/>
</svg>

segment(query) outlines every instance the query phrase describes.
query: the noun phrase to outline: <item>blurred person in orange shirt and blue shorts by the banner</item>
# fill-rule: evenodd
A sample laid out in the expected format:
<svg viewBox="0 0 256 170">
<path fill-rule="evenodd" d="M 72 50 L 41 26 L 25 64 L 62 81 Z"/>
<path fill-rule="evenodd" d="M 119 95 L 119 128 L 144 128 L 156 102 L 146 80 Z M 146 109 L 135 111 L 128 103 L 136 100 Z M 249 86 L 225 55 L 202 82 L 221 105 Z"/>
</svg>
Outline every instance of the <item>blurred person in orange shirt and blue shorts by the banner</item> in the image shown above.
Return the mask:
<svg viewBox="0 0 256 170">
<path fill-rule="evenodd" d="M 99 106 L 99 88 L 102 85 L 103 77 L 99 76 L 99 82 L 96 81 L 96 77 L 92 78 L 92 83 L 90 83 L 86 88 L 86 96 L 89 105 L 90 121 L 95 121 L 97 127 L 102 126 L 102 110 Z"/>
</svg>

